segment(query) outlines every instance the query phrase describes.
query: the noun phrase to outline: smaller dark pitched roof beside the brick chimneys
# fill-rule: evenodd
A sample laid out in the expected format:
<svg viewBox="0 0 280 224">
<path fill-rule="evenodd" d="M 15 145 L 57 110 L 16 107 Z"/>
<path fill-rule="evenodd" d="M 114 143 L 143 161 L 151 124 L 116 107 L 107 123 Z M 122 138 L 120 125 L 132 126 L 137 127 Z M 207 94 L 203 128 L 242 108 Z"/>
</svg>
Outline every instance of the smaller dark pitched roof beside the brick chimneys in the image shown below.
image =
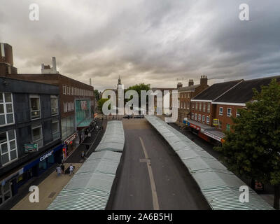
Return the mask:
<svg viewBox="0 0 280 224">
<path fill-rule="evenodd" d="M 214 100 L 217 97 L 221 96 L 221 94 L 225 93 L 226 91 L 230 90 L 230 88 L 234 87 L 238 83 L 240 83 L 243 79 L 240 80 L 233 80 L 230 82 L 225 83 L 216 83 L 209 86 L 206 90 L 202 91 L 193 99 L 198 100 Z"/>
</svg>

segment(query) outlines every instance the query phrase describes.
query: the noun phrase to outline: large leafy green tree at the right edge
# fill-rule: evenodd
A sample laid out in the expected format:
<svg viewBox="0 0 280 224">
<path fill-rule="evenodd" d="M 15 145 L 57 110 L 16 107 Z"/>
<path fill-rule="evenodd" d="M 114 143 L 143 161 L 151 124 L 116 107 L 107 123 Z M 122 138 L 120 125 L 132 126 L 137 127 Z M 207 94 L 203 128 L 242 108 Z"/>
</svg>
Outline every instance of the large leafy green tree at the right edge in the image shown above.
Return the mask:
<svg viewBox="0 0 280 224">
<path fill-rule="evenodd" d="M 234 132 L 226 132 L 222 159 L 237 174 L 274 186 L 274 209 L 280 195 L 280 85 L 276 80 L 261 91 L 253 89 L 253 101 L 232 118 Z"/>
</svg>

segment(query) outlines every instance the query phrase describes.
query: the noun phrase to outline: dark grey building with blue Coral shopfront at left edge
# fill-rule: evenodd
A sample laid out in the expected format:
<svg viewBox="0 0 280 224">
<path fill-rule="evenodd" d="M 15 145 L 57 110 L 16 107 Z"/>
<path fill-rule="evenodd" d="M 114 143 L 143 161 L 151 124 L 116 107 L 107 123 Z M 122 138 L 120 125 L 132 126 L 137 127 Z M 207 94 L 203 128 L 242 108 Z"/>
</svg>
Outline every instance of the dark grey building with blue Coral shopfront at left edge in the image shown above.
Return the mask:
<svg viewBox="0 0 280 224">
<path fill-rule="evenodd" d="M 61 161 L 59 87 L 0 77 L 0 207 Z"/>
</svg>

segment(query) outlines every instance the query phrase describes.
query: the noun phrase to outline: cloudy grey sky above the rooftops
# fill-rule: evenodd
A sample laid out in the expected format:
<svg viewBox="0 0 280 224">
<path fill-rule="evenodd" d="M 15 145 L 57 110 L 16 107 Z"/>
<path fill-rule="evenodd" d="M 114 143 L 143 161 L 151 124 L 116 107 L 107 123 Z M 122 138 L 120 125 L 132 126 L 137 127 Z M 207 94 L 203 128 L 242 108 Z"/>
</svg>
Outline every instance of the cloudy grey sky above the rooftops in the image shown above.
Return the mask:
<svg viewBox="0 0 280 224">
<path fill-rule="evenodd" d="M 29 5 L 39 21 L 29 20 Z M 250 21 L 239 20 L 247 3 Z M 41 63 L 95 89 L 280 74 L 279 0 L 1 0 L 0 42 L 19 73 Z"/>
</svg>

